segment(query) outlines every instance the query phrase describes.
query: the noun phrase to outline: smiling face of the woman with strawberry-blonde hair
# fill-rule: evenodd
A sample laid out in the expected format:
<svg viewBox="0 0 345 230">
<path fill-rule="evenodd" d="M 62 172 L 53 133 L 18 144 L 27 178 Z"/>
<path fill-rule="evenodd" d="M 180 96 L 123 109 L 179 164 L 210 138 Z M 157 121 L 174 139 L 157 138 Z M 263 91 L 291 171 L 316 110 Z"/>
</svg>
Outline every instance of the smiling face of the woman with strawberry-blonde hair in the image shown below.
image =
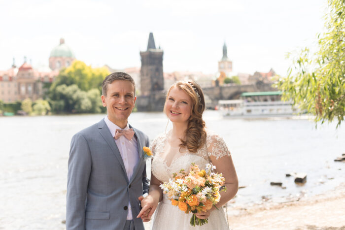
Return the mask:
<svg viewBox="0 0 345 230">
<path fill-rule="evenodd" d="M 165 113 L 172 122 L 187 123 L 192 113 L 191 98 L 174 86 L 165 102 Z"/>
</svg>

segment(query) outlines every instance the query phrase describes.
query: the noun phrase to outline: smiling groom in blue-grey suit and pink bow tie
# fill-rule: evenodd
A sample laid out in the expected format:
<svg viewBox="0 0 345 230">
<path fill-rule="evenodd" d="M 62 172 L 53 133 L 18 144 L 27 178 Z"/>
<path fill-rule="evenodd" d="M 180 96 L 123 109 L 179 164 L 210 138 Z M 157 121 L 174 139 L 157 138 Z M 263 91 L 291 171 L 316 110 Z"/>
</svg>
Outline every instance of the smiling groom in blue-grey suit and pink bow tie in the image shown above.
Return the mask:
<svg viewBox="0 0 345 230">
<path fill-rule="evenodd" d="M 67 230 L 144 230 L 138 197 L 148 192 L 142 147 L 149 139 L 128 124 L 135 90 L 127 73 L 108 75 L 102 88 L 107 116 L 72 137 Z"/>
</svg>

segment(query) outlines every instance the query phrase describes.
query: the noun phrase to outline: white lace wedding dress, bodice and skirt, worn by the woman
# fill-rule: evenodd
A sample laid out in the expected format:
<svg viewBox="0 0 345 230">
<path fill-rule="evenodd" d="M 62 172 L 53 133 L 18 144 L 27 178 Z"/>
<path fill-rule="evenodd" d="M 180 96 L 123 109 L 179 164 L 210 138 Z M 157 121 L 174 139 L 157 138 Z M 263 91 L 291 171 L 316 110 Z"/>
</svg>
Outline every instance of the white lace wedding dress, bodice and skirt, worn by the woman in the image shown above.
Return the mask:
<svg viewBox="0 0 345 230">
<path fill-rule="evenodd" d="M 153 161 L 151 173 L 161 182 L 169 181 L 174 172 L 184 169 L 187 173 L 191 163 L 199 165 L 200 169 L 205 169 L 205 165 L 210 163 L 210 156 L 218 160 L 223 156 L 229 156 L 227 145 L 219 135 L 207 131 L 206 144 L 197 153 L 179 152 L 179 147 L 172 147 L 167 142 L 168 133 L 163 133 L 154 139 L 151 145 Z M 223 208 L 211 211 L 208 217 L 208 224 L 203 226 L 191 226 L 190 218 L 192 213 L 186 214 L 173 206 L 166 195 L 158 204 L 155 211 L 152 230 L 228 230 L 228 223 Z"/>
</svg>

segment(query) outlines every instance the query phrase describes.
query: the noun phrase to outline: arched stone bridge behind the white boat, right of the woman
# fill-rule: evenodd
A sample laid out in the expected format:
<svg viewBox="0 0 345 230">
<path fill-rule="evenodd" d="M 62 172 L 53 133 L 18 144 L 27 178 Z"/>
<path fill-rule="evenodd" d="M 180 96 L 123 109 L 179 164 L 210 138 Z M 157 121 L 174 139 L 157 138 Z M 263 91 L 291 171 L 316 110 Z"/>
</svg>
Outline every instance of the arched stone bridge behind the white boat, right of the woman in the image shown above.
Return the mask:
<svg viewBox="0 0 345 230">
<path fill-rule="evenodd" d="M 211 108 L 214 108 L 214 106 L 218 104 L 218 100 L 239 99 L 241 94 L 245 92 L 262 92 L 276 90 L 276 88 L 272 87 L 272 83 L 263 83 L 262 81 L 258 81 L 256 84 L 250 85 L 228 84 L 225 86 L 203 88 L 206 100 L 211 100 L 211 102 L 207 103 L 207 107 Z"/>
</svg>

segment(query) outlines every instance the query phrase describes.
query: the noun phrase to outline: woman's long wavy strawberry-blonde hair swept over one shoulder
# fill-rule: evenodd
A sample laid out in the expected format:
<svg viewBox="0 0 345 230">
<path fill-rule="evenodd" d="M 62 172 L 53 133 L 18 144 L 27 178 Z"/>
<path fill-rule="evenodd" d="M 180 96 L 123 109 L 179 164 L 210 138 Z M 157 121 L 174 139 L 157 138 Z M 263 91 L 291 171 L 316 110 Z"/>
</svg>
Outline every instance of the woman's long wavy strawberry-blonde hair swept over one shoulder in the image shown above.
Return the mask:
<svg viewBox="0 0 345 230">
<path fill-rule="evenodd" d="M 174 87 L 183 90 L 192 100 L 192 111 L 185 131 L 185 140 L 180 139 L 182 142 L 180 147 L 186 147 L 189 152 L 196 153 L 199 148 L 205 145 L 206 141 L 205 121 L 203 120 L 203 112 L 205 111 L 204 93 L 201 87 L 192 80 L 177 81 L 168 91 L 164 112 L 170 91 Z"/>
</svg>

